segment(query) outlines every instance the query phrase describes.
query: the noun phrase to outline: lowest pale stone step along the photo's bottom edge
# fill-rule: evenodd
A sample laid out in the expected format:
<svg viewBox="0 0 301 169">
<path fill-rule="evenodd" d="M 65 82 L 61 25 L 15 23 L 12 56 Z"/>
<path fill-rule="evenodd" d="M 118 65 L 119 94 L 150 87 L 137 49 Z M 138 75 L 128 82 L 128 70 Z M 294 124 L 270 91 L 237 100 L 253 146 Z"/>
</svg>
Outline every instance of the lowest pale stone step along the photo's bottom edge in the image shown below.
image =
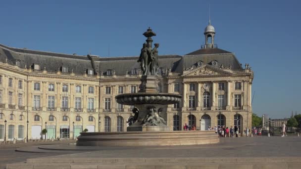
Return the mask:
<svg viewBox="0 0 301 169">
<path fill-rule="evenodd" d="M 301 163 L 98 164 L 16 163 L 6 169 L 300 169 Z"/>
</svg>

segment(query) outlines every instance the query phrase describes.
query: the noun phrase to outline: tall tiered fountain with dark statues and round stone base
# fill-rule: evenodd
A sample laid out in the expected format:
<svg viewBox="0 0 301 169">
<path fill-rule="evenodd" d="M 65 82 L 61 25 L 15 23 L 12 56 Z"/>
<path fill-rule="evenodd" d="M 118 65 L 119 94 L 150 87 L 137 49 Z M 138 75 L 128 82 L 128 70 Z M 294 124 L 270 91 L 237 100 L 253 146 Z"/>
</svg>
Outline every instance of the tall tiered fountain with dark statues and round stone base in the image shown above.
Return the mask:
<svg viewBox="0 0 301 169">
<path fill-rule="evenodd" d="M 117 95 L 116 101 L 123 105 L 134 105 L 134 123 L 128 132 L 82 132 L 77 137 L 78 146 L 163 146 L 217 143 L 214 131 L 169 131 L 170 127 L 161 117 L 164 105 L 178 103 L 182 96 L 160 93 L 157 84 L 158 43 L 152 48 L 151 37 L 156 36 L 151 28 L 143 34 L 140 62 L 143 75 L 137 93 Z"/>
</svg>

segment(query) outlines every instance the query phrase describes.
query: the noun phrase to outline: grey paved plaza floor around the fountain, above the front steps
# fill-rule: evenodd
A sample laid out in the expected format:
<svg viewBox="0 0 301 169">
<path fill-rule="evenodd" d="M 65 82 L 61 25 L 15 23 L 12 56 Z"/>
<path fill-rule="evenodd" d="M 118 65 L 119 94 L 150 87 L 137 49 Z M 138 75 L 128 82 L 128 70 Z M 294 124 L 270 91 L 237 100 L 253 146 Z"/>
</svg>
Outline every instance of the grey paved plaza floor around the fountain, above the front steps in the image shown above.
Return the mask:
<svg viewBox="0 0 301 169">
<path fill-rule="evenodd" d="M 189 141 L 189 140 L 187 140 Z M 2 145 L 1 145 L 2 146 Z M 25 151 L 25 152 L 15 152 Z M 110 158 L 182 158 L 182 159 L 301 159 L 301 137 L 239 137 L 221 138 L 220 143 L 211 145 L 159 146 L 159 147 L 82 147 L 62 144 L 44 144 L 21 147 L 1 147 L 1 169 L 5 164 L 26 161 L 57 161 L 57 159 L 83 160 Z M 28 152 L 26 152 L 28 151 Z M 62 155 L 63 154 L 63 155 Z M 51 157 L 49 157 L 51 156 Z M 55 160 L 56 159 L 56 160 Z M 206 160 L 205 160 L 206 161 Z M 300 161 L 299 161 L 300 162 Z M 68 163 L 68 162 L 67 162 Z M 70 161 L 70 163 L 72 163 Z"/>
</svg>

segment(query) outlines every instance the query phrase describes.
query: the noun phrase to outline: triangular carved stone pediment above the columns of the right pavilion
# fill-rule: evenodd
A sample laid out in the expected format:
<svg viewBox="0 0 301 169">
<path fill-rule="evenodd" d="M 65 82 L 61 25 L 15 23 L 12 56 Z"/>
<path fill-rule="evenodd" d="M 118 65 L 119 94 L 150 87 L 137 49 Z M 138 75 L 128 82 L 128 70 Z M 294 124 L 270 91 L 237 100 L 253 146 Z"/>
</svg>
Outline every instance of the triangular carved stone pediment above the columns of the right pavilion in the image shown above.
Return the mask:
<svg viewBox="0 0 301 169">
<path fill-rule="evenodd" d="M 231 73 L 215 68 L 213 66 L 201 66 L 193 71 L 187 72 L 183 76 L 213 76 L 213 75 L 231 75 Z"/>
</svg>

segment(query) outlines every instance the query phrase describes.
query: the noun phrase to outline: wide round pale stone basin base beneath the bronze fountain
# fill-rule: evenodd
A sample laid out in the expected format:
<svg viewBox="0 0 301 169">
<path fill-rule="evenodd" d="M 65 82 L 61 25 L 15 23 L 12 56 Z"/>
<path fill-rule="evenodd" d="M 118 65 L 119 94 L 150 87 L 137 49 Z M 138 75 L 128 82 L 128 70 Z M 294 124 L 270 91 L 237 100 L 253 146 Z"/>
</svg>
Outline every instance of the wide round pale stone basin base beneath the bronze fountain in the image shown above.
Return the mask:
<svg viewBox="0 0 301 169">
<path fill-rule="evenodd" d="M 84 132 L 77 146 L 172 146 L 218 143 L 214 131 Z"/>
</svg>

